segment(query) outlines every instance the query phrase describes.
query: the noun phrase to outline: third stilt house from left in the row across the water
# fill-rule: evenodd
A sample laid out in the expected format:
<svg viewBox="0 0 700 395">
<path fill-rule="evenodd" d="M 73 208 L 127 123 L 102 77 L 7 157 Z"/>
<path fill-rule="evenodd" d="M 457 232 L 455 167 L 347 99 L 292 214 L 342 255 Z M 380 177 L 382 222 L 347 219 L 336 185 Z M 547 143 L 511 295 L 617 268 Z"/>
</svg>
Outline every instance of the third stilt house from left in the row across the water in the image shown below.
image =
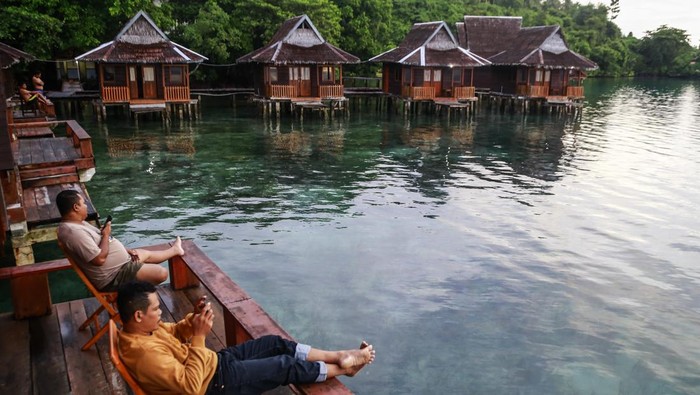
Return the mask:
<svg viewBox="0 0 700 395">
<path fill-rule="evenodd" d="M 377 55 L 386 93 L 412 100 L 474 97 L 474 69 L 490 62 L 457 43 L 445 22 L 416 23 L 398 47 Z"/>
</svg>

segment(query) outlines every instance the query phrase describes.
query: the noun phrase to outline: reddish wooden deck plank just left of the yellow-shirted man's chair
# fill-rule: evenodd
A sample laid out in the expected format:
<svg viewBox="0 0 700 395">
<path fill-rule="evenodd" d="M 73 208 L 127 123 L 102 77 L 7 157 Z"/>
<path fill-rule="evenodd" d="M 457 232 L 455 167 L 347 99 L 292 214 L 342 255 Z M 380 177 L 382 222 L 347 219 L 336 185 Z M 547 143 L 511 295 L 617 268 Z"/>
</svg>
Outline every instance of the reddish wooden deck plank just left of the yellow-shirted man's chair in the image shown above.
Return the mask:
<svg viewBox="0 0 700 395">
<path fill-rule="evenodd" d="M 108 394 L 109 385 L 104 373 L 99 374 L 95 367 L 101 367 L 101 361 L 95 348 L 82 351 L 80 348 L 92 336 L 91 330 L 78 331 L 78 327 L 87 318 L 81 301 L 56 305 L 58 320 L 63 337 L 66 357 L 66 370 L 73 394 Z M 101 368 L 99 369 L 101 372 Z"/>
</svg>

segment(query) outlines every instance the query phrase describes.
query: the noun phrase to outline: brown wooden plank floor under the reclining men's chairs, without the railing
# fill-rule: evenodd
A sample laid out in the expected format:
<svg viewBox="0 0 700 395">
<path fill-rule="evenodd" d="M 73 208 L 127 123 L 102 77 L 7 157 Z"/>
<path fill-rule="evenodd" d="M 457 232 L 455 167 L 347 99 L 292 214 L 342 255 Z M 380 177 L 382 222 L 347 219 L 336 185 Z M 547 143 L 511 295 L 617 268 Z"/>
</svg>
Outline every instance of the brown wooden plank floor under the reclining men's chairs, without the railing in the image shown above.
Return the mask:
<svg viewBox="0 0 700 395">
<path fill-rule="evenodd" d="M 158 287 L 163 321 L 184 318 L 193 302 L 208 294 L 203 287 L 173 291 Z M 215 299 L 209 296 L 210 301 Z M 126 383 L 109 359 L 108 335 L 87 351 L 80 347 L 92 336 L 92 328 L 78 331 L 87 315 L 97 308 L 94 298 L 58 303 L 50 315 L 17 321 L 12 314 L 0 315 L 0 394 L 130 394 Z M 221 306 L 215 308 L 207 346 L 224 347 Z M 106 319 L 106 315 L 103 317 Z M 267 395 L 291 394 L 282 387 Z"/>
</svg>

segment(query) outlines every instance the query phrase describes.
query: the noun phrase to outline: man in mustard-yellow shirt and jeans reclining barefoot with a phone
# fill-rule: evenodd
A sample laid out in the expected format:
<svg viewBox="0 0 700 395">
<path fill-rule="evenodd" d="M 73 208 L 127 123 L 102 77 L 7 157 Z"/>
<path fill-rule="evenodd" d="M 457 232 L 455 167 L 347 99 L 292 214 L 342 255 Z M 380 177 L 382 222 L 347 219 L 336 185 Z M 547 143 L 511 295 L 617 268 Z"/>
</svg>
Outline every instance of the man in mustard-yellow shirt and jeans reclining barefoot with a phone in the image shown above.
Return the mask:
<svg viewBox="0 0 700 395">
<path fill-rule="evenodd" d="M 200 300 L 178 323 L 161 322 L 155 287 L 134 281 L 119 288 L 117 306 L 124 327 L 119 350 L 124 364 L 148 394 L 260 394 L 280 385 L 354 376 L 374 361 L 371 345 L 325 351 L 264 336 L 219 352 L 204 339 L 214 314 Z"/>
</svg>

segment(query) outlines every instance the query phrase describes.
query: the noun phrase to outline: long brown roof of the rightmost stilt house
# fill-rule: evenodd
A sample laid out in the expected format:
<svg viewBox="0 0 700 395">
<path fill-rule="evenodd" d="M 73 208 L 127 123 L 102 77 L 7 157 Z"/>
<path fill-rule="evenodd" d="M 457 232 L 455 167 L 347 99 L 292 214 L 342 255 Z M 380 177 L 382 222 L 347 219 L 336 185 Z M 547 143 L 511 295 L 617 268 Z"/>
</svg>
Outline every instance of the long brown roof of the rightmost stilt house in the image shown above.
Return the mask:
<svg viewBox="0 0 700 395">
<path fill-rule="evenodd" d="M 464 16 L 457 23 L 459 43 L 495 65 L 597 69 L 569 49 L 559 26 L 522 26 L 522 17 Z"/>
</svg>

